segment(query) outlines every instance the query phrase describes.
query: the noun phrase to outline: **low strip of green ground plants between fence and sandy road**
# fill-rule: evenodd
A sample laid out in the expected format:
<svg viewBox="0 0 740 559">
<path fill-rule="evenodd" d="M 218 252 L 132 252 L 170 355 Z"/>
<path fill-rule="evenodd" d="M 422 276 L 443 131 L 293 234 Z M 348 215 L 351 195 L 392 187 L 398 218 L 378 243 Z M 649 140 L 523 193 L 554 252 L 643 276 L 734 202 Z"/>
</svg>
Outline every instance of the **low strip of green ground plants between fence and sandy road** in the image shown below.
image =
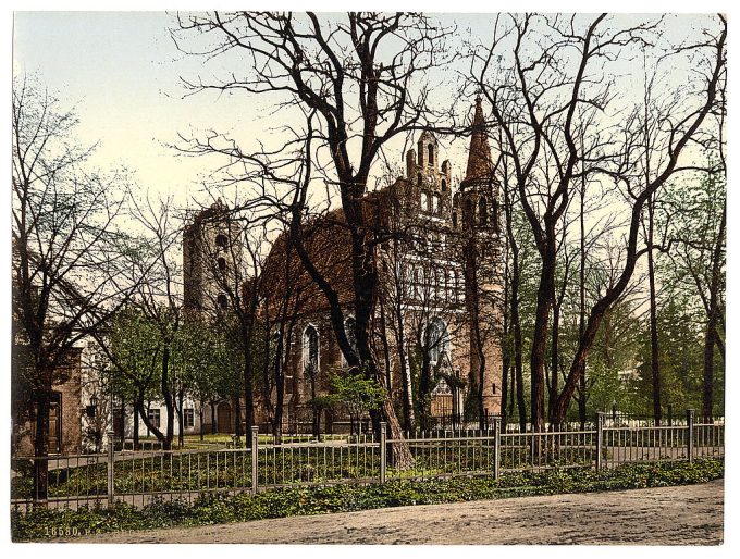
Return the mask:
<svg viewBox="0 0 740 559">
<path fill-rule="evenodd" d="M 434 505 L 517 496 L 605 492 L 684 485 L 724 475 L 721 460 L 625 464 L 613 470 L 507 472 L 492 477 L 393 481 L 384 485 L 296 486 L 249 494 L 202 494 L 192 505 L 156 500 L 141 509 L 119 504 L 111 509 L 11 510 L 13 541 L 45 541 L 122 530 L 147 530 L 250 520 L 351 512 L 383 507 Z"/>
</svg>

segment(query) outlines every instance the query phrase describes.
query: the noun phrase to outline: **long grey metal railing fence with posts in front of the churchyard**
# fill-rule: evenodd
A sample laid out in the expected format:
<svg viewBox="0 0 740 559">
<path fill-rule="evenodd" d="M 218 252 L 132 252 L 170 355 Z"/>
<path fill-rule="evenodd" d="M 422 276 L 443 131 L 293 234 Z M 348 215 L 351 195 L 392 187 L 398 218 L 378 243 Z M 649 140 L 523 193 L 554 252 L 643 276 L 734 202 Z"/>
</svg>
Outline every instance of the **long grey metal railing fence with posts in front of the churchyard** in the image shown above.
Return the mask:
<svg viewBox="0 0 740 559">
<path fill-rule="evenodd" d="M 115 451 L 112 434 L 104 455 L 16 458 L 11 504 L 73 507 L 143 506 L 153 499 L 193 500 L 211 492 L 338 483 L 385 483 L 456 475 L 497 477 L 502 471 L 554 468 L 614 468 L 626 462 L 723 457 L 725 426 L 694 423 L 626 426 L 599 413 L 593 428 L 519 432 L 493 418 L 486 430 L 434 430 L 380 436 L 282 437 L 257 427 L 231 448 Z M 41 465 L 39 468 L 39 464 Z M 47 472 L 47 490 L 35 483 Z"/>
</svg>

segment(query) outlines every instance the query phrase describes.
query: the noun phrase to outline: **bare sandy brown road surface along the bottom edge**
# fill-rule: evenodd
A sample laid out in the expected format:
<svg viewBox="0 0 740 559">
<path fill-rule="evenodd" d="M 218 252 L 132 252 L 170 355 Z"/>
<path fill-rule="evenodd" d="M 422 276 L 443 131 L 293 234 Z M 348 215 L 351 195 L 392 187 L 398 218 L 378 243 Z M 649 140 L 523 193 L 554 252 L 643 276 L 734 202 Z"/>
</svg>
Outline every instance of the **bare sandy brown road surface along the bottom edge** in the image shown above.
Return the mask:
<svg viewBox="0 0 740 559">
<path fill-rule="evenodd" d="M 626 492 L 398 507 L 192 529 L 100 534 L 85 543 L 659 544 L 723 541 L 723 481 Z"/>
</svg>

